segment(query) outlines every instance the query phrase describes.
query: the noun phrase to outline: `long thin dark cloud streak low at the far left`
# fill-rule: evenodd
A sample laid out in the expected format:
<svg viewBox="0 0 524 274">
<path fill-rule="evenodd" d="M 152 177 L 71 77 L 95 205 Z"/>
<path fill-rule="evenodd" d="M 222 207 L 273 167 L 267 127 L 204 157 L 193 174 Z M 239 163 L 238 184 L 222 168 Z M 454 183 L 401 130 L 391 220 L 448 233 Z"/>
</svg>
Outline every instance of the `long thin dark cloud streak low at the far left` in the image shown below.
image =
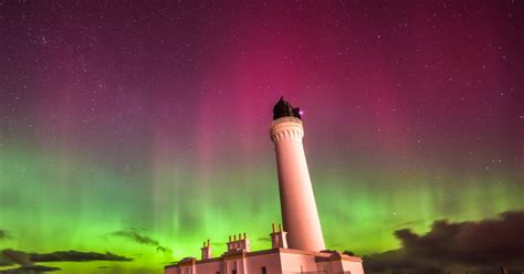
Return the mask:
<svg viewBox="0 0 524 274">
<path fill-rule="evenodd" d="M 32 266 L 39 262 L 90 262 L 90 261 L 132 261 L 130 257 L 119 256 L 111 252 L 81 252 L 81 251 L 55 251 L 51 253 L 29 253 L 17 250 L 2 250 L 0 252 L 0 262 L 3 265 Z"/>
</svg>

